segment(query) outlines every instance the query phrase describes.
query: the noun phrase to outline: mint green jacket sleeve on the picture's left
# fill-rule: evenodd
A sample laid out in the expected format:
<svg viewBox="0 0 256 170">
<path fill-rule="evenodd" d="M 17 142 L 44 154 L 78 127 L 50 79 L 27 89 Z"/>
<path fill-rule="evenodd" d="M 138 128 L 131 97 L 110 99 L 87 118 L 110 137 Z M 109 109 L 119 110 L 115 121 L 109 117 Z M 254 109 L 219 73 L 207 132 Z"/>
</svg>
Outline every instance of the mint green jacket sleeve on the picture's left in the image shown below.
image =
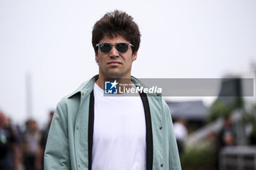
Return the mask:
<svg viewBox="0 0 256 170">
<path fill-rule="evenodd" d="M 67 111 L 58 104 L 45 147 L 45 170 L 70 169 Z"/>
</svg>

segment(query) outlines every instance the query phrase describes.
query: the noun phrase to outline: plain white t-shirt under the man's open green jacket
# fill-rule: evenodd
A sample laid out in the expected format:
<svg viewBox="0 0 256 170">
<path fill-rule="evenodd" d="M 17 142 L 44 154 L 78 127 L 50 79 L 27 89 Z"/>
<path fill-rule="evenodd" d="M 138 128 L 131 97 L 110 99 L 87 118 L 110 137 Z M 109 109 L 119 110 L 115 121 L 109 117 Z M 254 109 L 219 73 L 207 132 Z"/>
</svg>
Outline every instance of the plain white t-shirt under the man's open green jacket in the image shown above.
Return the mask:
<svg viewBox="0 0 256 170">
<path fill-rule="evenodd" d="M 138 96 L 103 96 L 94 83 L 92 170 L 146 170 L 146 120 Z"/>
</svg>

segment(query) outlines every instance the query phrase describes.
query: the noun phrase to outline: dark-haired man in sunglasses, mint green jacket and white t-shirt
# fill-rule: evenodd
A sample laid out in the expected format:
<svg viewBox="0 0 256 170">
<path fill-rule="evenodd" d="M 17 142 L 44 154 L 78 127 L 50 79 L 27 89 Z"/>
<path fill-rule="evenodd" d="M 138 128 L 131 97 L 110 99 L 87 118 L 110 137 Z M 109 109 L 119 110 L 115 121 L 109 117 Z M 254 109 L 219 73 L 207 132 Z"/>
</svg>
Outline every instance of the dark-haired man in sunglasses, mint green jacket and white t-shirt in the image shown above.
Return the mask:
<svg viewBox="0 0 256 170">
<path fill-rule="evenodd" d="M 133 18 L 118 10 L 105 14 L 94 25 L 92 45 L 99 75 L 59 102 L 45 170 L 181 169 L 170 111 L 159 93 L 103 96 L 107 79 L 142 84 L 131 77 L 140 46 Z"/>
</svg>

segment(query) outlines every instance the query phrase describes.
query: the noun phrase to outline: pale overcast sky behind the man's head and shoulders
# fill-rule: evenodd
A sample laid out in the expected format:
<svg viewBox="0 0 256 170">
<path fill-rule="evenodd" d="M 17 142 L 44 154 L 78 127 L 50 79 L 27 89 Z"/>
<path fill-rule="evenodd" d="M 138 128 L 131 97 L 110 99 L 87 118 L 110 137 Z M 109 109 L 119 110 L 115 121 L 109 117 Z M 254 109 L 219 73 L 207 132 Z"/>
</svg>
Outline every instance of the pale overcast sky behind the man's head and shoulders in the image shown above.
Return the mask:
<svg viewBox="0 0 256 170">
<path fill-rule="evenodd" d="M 21 123 L 26 74 L 31 115 L 48 111 L 98 72 L 91 45 L 94 23 L 121 9 L 135 19 L 141 43 L 138 78 L 219 78 L 247 72 L 256 59 L 256 1 L 0 0 L 0 109 Z"/>
</svg>

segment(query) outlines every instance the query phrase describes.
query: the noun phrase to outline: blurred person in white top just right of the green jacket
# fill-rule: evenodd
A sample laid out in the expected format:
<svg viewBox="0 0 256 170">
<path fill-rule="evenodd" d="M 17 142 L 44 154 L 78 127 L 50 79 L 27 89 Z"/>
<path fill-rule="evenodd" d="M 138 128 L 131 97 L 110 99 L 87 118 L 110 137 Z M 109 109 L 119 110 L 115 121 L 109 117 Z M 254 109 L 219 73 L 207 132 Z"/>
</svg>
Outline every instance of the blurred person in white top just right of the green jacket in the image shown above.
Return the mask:
<svg viewBox="0 0 256 170">
<path fill-rule="evenodd" d="M 187 139 L 187 120 L 186 119 L 178 119 L 175 123 L 173 123 L 174 134 L 176 136 L 177 145 L 178 145 L 178 153 L 181 155 L 184 152 L 184 143 Z"/>
</svg>

